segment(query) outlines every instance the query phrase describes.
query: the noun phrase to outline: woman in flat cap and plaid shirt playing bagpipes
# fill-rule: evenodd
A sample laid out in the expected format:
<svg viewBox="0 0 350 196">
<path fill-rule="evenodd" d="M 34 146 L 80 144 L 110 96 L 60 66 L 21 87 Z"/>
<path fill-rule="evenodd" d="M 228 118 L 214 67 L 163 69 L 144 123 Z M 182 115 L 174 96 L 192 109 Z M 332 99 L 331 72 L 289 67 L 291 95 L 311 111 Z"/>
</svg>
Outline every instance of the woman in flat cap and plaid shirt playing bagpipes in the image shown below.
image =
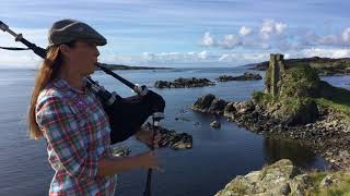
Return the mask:
<svg viewBox="0 0 350 196">
<path fill-rule="evenodd" d="M 114 195 L 116 173 L 132 169 L 160 169 L 154 151 L 135 157 L 112 157 L 108 117 L 84 77 L 96 69 L 96 46 L 106 39 L 91 26 L 74 20 L 54 23 L 49 48 L 30 106 L 30 133 L 47 140 L 48 160 L 55 170 L 49 195 Z M 148 145 L 150 132 L 137 138 Z"/>
</svg>

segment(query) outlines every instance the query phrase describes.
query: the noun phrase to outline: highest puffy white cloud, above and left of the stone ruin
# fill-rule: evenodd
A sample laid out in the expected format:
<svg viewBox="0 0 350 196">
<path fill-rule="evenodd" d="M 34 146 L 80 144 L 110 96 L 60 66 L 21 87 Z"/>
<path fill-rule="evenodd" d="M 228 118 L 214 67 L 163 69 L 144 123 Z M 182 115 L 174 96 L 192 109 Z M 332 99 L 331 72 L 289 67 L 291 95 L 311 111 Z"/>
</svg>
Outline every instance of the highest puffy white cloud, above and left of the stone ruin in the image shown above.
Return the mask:
<svg viewBox="0 0 350 196">
<path fill-rule="evenodd" d="M 287 28 L 285 23 L 275 22 L 273 20 L 266 20 L 260 28 L 260 34 L 264 39 L 269 39 L 273 35 L 280 35 Z"/>
</svg>

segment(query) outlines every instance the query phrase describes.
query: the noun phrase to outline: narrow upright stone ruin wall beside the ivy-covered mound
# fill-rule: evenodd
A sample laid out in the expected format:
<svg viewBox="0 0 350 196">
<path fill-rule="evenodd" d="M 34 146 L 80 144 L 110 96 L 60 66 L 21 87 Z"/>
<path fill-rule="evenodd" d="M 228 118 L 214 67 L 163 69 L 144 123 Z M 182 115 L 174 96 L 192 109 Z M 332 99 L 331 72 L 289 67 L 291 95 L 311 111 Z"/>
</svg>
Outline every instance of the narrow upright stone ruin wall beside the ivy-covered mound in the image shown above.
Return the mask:
<svg viewBox="0 0 350 196">
<path fill-rule="evenodd" d="M 285 69 L 283 54 L 270 53 L 269 68 L 265 76 L 265 93 L 271 94 L 273 97 L 279 95 L 278 82 L 281 79 Z"/>
</svg>

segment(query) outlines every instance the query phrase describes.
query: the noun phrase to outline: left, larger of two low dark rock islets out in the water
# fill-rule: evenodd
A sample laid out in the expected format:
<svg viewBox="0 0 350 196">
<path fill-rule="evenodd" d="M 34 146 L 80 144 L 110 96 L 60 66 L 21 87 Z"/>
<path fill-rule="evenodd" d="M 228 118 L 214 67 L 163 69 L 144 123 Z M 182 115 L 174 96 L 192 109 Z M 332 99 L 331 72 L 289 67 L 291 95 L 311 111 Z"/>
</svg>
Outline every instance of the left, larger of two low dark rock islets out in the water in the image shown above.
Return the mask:
<svg viewBox="0 0 350 196">
<path fill-rule="evenodd" d="M 156 88 L 188 88 L 188 87 L 203 87 L 203 86 L 212 86 L 215 85 L 208 78 L 183 78 L 179 77 L 174 82 L 167 81 L 156 81 L 154 83 L 154 87 Z"/>
</svg>

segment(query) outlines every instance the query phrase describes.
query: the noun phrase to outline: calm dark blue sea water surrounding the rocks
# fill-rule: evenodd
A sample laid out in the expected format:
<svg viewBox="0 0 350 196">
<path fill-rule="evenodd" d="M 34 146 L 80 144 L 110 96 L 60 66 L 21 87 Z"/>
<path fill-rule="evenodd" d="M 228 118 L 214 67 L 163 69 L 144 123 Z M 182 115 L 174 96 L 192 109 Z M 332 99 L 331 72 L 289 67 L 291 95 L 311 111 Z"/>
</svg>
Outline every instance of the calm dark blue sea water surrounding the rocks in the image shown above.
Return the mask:
<svg viewBox="0 0 350 196">
<path fill-rule="evenodd" d="M 246 68 L 231 69 L 174 69 L 156 71 L 116 71 L 133 83 L 149 86 L 166 101 L 162 126 L 186 132 L 194 137 L 189 150 L 160 149 L 164 173 L 153 172 L 152 195 L 213 195 L 235 175 L 258 170 L 264 164 L 289 158 L 305 168 L 325 168 L 326 162 L 303 144 L 266 138 L 237 127 L 225 119 L 194 112 L 188 109 L 198 97 L 214 94 L 225 100 L 249 99 L 254 90 L 264 88 L 262 81 L 218 83 L 201 88 L 155 89 L 155 81 L 173 81 L 177 77 L 207 77 L 221 74 L 238 75 Z M 264 75 L 264 72 L 258 72 Z M 34 85 L 35 71 L 1 70 L 0 72 L 0 195 L 47 195 L 54 174 L 47 162 L 45 140 L 28 138 L 26 111 Z M 121 83 L 102 72 L 93 78 L 121 96 L 133 95 Z M 349 76 L 323 77 L 332 85 L 349 89 Z M 175 118 L 185 119 L 176 121 Z M 219 120 L 220 130 L 209 126 Z M 148 150 L 135 138 L 117 146 L 128 146 L 136 155 Z M 116 195 L 141 195 L 147 171 L 136 170 L 118 175 Z"/>
</svg>

